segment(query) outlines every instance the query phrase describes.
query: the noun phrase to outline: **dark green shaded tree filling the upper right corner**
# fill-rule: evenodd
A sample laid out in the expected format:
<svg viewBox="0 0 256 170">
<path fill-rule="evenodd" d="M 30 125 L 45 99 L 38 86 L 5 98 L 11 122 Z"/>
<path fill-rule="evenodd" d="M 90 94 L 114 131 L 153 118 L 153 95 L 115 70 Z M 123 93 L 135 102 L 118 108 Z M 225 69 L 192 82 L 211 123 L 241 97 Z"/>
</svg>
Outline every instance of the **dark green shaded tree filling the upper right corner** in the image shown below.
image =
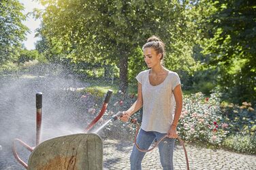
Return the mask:
<svg viewBox="0 0 256 170">
<path fill-rule="evenodd" d="M 212 37 L 206 39 L 204 54 L 219 69 L 219 84 L 228 97 L 256 101 L 256 1 L 224 0 L 214 3 L 209 18 Z"/>
</svg>

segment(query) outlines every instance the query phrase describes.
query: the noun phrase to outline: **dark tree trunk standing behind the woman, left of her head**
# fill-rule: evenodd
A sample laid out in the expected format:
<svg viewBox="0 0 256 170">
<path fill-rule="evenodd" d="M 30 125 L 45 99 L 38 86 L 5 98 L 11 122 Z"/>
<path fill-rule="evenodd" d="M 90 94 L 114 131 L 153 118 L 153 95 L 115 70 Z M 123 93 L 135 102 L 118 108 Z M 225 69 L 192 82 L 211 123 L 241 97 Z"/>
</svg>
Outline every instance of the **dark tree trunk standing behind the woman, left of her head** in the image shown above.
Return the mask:
<svg viewBox="0 0 256 170">
<path fill-rule="evenodd" d="M 119 80 L 119 89 L 126 93 L 128 87 L 128 53 L 122 52 L 119 62 L 120 69 L 120 80 Z"/>
</svg>

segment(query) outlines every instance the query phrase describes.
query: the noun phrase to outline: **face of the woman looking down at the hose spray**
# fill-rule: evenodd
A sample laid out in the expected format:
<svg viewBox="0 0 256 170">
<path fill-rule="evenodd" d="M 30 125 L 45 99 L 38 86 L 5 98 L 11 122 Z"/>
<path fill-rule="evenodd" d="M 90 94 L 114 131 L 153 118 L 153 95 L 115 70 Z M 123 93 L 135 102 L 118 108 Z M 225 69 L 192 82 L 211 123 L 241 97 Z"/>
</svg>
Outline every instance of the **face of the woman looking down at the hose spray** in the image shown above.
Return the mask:
<svg viewBox="0 0 256 170">
<path fill-rule="evenodd" d="M 153 68 L 153 66 L 160 64 L 161 54 L 157 54 L 157 51 L 151 47 L 143 50 L 143 56 L 148 68 Z"/>
</svg>

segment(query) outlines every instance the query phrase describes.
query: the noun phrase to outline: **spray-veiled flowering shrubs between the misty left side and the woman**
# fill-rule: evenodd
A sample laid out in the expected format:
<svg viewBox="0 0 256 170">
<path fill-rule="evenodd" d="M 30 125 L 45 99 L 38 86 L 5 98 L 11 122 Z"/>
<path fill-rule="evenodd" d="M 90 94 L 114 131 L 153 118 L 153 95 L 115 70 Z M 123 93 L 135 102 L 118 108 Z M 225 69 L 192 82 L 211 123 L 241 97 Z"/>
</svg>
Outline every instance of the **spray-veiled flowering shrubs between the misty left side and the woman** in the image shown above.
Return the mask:
<svg viewBox="0 0 256 170">
<path fill-rule="evenodd" d="M 95 119 L 101 106 L 103 104 L 103 98 L 106 95 L 105 89 L 97 87 L 86 87 L 85 89 L 79 90 L 76 88 L 66 89 L 69 95 L 76 93 L 80 95 L 80 99 L 76 102 L 78 107 L 81 107 L 82 111 L 77 113 L 78 121 L 86 122 L 87 125 Z M 76 95 L 77 96 L 77 95 Z M 75 96 L 74 96 L 75 97 Z M 79 98 L 79 97 L 78 97 Z M 117 93 L 112 93 L 112 97 L 108 104 L 106 112 L 103 114 L 101 119 L 95 124 L 91 131 L 97 130 L 104 123 L 111 119 L 111 117 L 116 114 L 118 111 L 126 110 L 135 102 L 134 94 L 125 94 L 122 91 Z M 137 116 L 140 112 L 134 114 Z M 108 136 L 109 138 L 114 138 L 118 140 L 133 140 L 135 134 L 135 125 L 131 123 L 123 123 L 122 121 L 110 122 L 104 127 L 99 134 L 102 137 Z"/>
</svg>

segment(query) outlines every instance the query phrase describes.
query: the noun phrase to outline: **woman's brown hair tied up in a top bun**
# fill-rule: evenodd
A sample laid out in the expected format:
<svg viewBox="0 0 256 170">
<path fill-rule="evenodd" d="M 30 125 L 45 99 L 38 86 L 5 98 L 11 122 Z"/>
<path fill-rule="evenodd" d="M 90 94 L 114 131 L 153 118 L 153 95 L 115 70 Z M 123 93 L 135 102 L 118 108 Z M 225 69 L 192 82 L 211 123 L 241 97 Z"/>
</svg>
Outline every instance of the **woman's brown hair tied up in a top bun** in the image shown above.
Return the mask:
<svg viewBox="0 0 256 170">
<path fill-rule="evenodd" d="M 155 35 L 149 37 L 146 41 L 146 43 L 143 45 L 142 50 L 145 48 L 152 47 L 155 49 L 157 54 L 162 54 L 160 60 L 163 60 L 163 57 L 165 56 L 165 44 L 159 37 L 156 37 Z"/>
</svg>

